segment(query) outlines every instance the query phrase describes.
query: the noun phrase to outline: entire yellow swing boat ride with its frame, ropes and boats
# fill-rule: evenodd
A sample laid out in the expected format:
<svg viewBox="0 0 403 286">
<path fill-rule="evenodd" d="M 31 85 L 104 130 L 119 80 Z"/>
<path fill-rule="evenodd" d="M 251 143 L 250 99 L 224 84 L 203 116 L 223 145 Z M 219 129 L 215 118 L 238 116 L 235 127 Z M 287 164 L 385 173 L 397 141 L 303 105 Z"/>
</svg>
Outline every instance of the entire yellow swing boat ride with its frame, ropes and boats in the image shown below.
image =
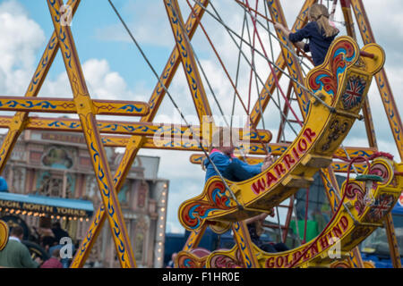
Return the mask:
<svg viewBox="0 0 403 286">
<path fill-rule="evenodd" d="M 218 105 L 220 116 L 232 118 L 235 108 L 232 108 L 231 114 L 223 114 L 220 105 L 224 102 L 215 96 L 210 87 L 211 75 L 203 70 L 196 53 L 197 46 L 191 42 L 199 27 L 233 88 L 233 106 L 236 103 L 240 105 L 248 117 L 244 127 L 236 128 L 242 142 L 248 142 L 238 146 L 237 156 L 254 163 L 271 153 L 277 160 L 269 169 L 248 181 L 227 181 L 221 175 L 212 177 L 201 187 L 201 195 L 186 200 L 180 206 L 180 223 L 192 232 L 176 259 L 176 266 L 364 267 L 368 265 L 364 264 L 357 245 L 376 228 L 382 227 L 383 223 L 388 233 L 393 265 L 401 266 L 390 210 L 403 188 L 403 164 L 393 161 L 390 154 L 378 150 L 374 130 L 376 119 L 371 114 L 367 99 L 373 78 L 379 88 L 400 159 L 403 157 L 403 128 L 383 69 L 385 54 L 382 47 L 375 43 L 362 0 L 320 1 L 328 5 L 330 20 L 338 5 L 341 5 L 347 36 L 336 38 L 324 63 L 314 68 L 308 55 L 297 50 L 280 30 L 270 27 L 273 21 L 287 27 L 279 0 L 262 0 L 260 3 L 258 0 L 229 1 L 236 5 L 236 11 L 241 15 L 239 19 L 243 17 L 236 23 L 223 20 L 215 3 L 208 0 L 185 0 L 180 3 L 188 5 L 190 11 L 188 20 L 184 21 L 177 0 L 163 0 L 161 4 L 166 7 L 176 46 L 160 75 L 116 6 L 108 0 L 156 77 L 157 85 L 148 103 L 91 99 L 73 33 L 66 21 L 73 19 L 80 2 L 69 0 L 64 5 L 63 0 L 47 0 L 55 30 L 25 97 L 0 97 L 0 110 L 15 112 L 13 116 L 0 118 L 0 127 L 8 129 L 0 149 L 0 171 L 4 170 L 23 130 L 82 132 L 86 139 L 103 206 L 93 215 L 87 235 L 73 258 L 72 267 L 84 265 L 106 219 L 121 266 L 136 267 L 117 193 L 141 148 L 202 152 L 191 156 L 191 162 L 201 164 L 206 157 L 209 159 L 211 134 L 219 128 L 233 127 L 232 121 L 226 122 L 227 126 L 216 125 L 214 121 L 217 114 L 212 112 L 204 84 L 208 85 L 210 97 Z M 292 30 L 301 29 L 307 23 L 309 7 L 318 2 L 301 1 L 302 8 Z M 362 47 L 357 44 L 353 13 L 363 38 Z M 236 72 L 236 79 L 233 79 L 234 76 L 231 78 L 230 73 L 234 72 L 227 70 L 219 48 L 215 47 L 214 40 L 211 40 L 203 25 L 206 16 L 215 22 L 215 29 L 224 30 L 232 40 L 238 51 L 237 71 L 244 72 L 241 64 L 248 68 L 243 76 Z M 238 30 L 242 30 L 241 34 Z M 277 59 L 274 57 L 276 45 L 280 50 Z M 63 56 L 73 98 L 40 98 L 39 90 L 58 50 Z M 259 61 L 265 64 L 267 76 L 264 78 L 262 74 L 264 76 L 266 73 L 260 73 L 257 69 L 256 63 Z M 179 65 L 184 68 L 189 97 L 193 99 L 199 126 L 186 121 L 168 89 Z M 249 86 L 246 92 L 239 91 L 241 78 L 246 79 L 246 85 Z M 257 90 L 256 101 L 251 105 L 253 87 Z M 287 88 L 286 92 L 284 87 Z M 167 126 L 154 122 L 165 96 L 176 107 L 184 124 Z M 272 112 L 267 108 L 271 105 L 275 105 L 279 112 L 276 142 L 270 142 L 272 134 L 264 124 L 265 114 Z M 78 114 L 79 119 L 30 117 L 30 112 Z M 97 119 L 97 115 L 101 114 L 140 116 L 140 121 L 101 121 Z M 369 147 L 343 146 L 343 140 L 356 121 L 364 122 Z M 260 123 L 263 128 L 258 129 Z M 159 136 L 159 144 L 155 141 L 156 135 Z M 286 136 L 292 139 L 286 139 Z M 110 172 L 105 147 L 125 147 L 115 176 Z M 278 208 L 287 198 L 293 198 L 298 189 L 309 188 L 317 172 L 321 174 L 324 191 L 332 208 L 330 222 L 322 232 L 315 239 L 304 241 L 301 246 L 286 252 L 265 253 L 253 245 L 244 219 Z M 335 180 L 335 172 L 347 173 L 347 180 L 342 186 Z M 350 177 L 351 172 L 356 173 L 355 178 Z M 293 211 L 294 200 L 289 201 L 287 218 Z M 232 228 L 236 246 L 211 253 L 198 251 L 197 246 L 206 227 L 218 233 Z M 285 225 L 279 225 L 283 240 L 287 239 L 288 227 L 289 219 Z M 330 255 L 330 250 L 334 248 L 339 249 L 336 258 Z"/>
</svg>

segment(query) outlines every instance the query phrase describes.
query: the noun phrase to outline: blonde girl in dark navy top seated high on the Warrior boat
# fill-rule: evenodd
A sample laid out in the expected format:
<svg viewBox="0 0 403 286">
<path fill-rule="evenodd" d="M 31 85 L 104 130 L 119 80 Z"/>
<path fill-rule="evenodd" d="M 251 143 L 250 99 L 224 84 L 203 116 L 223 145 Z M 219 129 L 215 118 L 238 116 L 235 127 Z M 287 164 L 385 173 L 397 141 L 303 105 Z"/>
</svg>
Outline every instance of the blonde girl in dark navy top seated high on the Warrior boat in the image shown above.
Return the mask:
<svg viewBox="0 0 403 286">
<path fill-rule="evenodd" d="M 308 13 L 310 22 L 303 29 L 298 29 L 293 33 L 280 23 L 276 23 L 274 27 L 282 30 L 287 38 L 304 52 L 311 52 L 313 64 L 318 66 L 323 63 L 331 42 L 339 34 L 339 29 L 330 25 L 329 17 L 326 6 L 313 4 Z M 309 43 L 304 43 L 302 41 L 304 38 L 309 39 Z"/>
</svg>

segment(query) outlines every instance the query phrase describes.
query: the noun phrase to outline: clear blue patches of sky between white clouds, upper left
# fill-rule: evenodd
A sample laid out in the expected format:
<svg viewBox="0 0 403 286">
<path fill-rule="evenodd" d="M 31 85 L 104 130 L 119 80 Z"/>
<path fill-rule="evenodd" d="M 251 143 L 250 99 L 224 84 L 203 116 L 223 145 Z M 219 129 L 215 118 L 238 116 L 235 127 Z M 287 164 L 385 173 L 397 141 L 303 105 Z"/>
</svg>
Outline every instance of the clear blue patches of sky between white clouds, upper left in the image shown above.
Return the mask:
<svg viewBox="0 0 403 286">
<path fill-rule="evenodd" d="M 134 1 L 140 3 L 141 1 Z M 46 1 L 20 0 L 29 13 L 30 18 L 39 23 L 45 31 L 46 38 L 50 38 L 53 32 L 53 24 L 49 16 Z M 115 1 L 116 8 L 122 16 L 130 21 L 132 18 L 124 7 L 127 1 Z M 89 13 L 90 12 L 90 13 Z M 103 29 L 109 26 L 116 27 L 119 32 L 125 32 L 123 25 L 118 21 L 116 14 L 107 1 L 81 1 L 81 4 L 73 18 L 72 31 L 75 44 L 81 59 L 81 63 L 91 58 L 105 58 L 112 71 L 118 71 L 130 88 L 135 88 L 136 82 L 143 81 L 150 86 L 156 80 L 152 77 L 150 69 L 142 62 L 142 57 L 131 41 L 111 41 L 107 35 L 103 35 Z M 157 71 L 161 71 L 164 61 L 169 55 L 167 46 L 151 46 L 147 43 L 142 46 L 147 50 L 147 56 Z M 38 57 L 40 57 L 40 53 Z M 62 61 L 55 61 L 52 65 L 50 77 L 64 71 Z"/>
</svg>

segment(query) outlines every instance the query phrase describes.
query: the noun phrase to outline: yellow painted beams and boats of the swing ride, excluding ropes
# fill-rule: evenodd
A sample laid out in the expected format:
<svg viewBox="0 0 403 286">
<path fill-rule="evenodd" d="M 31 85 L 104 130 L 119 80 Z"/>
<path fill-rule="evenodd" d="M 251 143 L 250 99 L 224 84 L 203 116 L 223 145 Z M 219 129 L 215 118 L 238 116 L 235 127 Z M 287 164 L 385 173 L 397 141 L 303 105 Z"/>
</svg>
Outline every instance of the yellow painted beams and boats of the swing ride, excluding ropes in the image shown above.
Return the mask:
<svg viewBox="0 0 403 286">
<path fill-rule="evenodd" d="M 66 4 L 72 8 L 72 17 L 80 0 L 69 0 Z M 304 1 L 292 29 L 301 29 L 307 21 L 309 7 L 316 0 Z M 247 3 L 247 1 L 246 1 Z M 214 122 L 205 122 L 212 115 L 209 100 L 202 84 L 190 40 L 201 24 L 201 17 L 206 11 L 209 0 L 195 1 L 187 21 L 177 0 L 162 0 L 167 9 L 176 46 L 167 59 L 159 82 L 154 88 L 148 103 L 134 101 L 92 100 L 81 71 L 81 63 L 74 44 L 70 27 L 62 21 L 63 0 L 47 0 L 49 13 L 54 25 L 54 32 L 42 55 L 37 70 L 24 97 L 0 97 L 0 110 L 14 111 L 13 116 L 0 116 L 0 128 L 8 128 L 0 149 L 0 172 L 4 170 L 7 159 L 23 130 L 55 130 L 82 132 L 90 152 L 94 173 L 99 185 L 102 206 L 94 214 L 85 239 L 81 242 L 73 258 L 72 267 L 82 267 L 90 254 L 99 231 L 107 219 L 116 246 L 116 254 L 122 267 L 136 267 L 133 248 L 125 229 L 124 217 L 117 199 L 125 177 L 140 148 L 176 149 L 183 151 L 201 151 L 200 142 L 209 142 L 211 132 L 204 133 L 204 124 L 209 130 L 216 130 Z M 266 0 L 270 16 L 287 26 L 279 0 Z M 364 13 L 361 0 L 341 1 L 343 14 L 348 23 L 347 36 L 337 38 L 322 65 L 313 68 L 306 77 L 296 56 L 291 53 L 287 38 L 277 31 L 282 43 L 281 54 L 276 66 L 286 69 L 294 80 L 290 81 L 289 90 L 294 90 L 296 100 L 304 119 L 304 126 L 293 142 L 270 143 L 269 130 L 256 130 L 262 112 L 270 102 L 271 94 L 276 90 L 283 72 L 274 69 L 262 88 L 259 98 L 249 114 L 250 122 L 244 129 L 239 129 L 251 144 L 245 146 L 246 152 L 254 157 L 246 158 L 255 164 L 262 160 L 256 155 L 264 155 L 267 150 L 279 156 L 268 170 L 248 181 L 227 181 L 230 191 L 218 177 L 207 181 L 200 196 L 185 201 L 179 208 L 179 220 L 185 229 L 191 231 L 183 251 L 177 257 L 179 267 L 311 267 L 329 266 L 329 250 L 339 249 L 339 263 L 349 267 L 364 267 L 356 249 L 358 243 L 371 232 L 386 222 L 390 246 L 393 249 L 395 267 L 399 267 L 399 251 L 393 231 L 390 210 L 397 202 L 403 189 L 403 164 L 398 164 L 388 156 L 379 155 L 373 130 L 373 119 L 366 100 L 368 89 L 373 80 L 382 93 L 382 101 L 388 114 L 394 139 L 403 156 L 402 124 L 399 111 L 393 101 L 391 89 L 383 70 L 385 55 L 381 46 L 374 43 L 368 18 Z M 357 46 L 355 31 L 352 29 L 351 7 L 356 14 L 359 29 L 364 38 L 364 47 Z M 64 66 L 73 91 L 73 98 L 40 98 L 39 90 L 47 77 L 47 71 L 53 63 L 56 53 L 61 50 Z M 200 126 L 189 130 L 188 126 L 166 126 L 153 122 L 159 105 L 166 94 L 178 66 L 182 64 L 189 85 Z M 346 100 L 347 85 L 361 85 L 360 100 L 351 103 Z M 306 89 L 303 87 L 307 87 Z M 285 109 L 287 110 L 287 109 Z M 359 114 L 363 110 L 365 127 L 370 147 L 340 147 L 343 139 Z M 389 113 L 388 111 L 393 111 Z M 30 112 L 52 114 L 78 114 L 79 120 L 50 117 L 30 117 Z M 139 116 L 138 122 L 99 121 L 96 115 Z M 209 117 L 210 118 L 210 117 Z M 153 138 L 162 136 L 156 145 Z M 182 138 L 172 140 L 165 138 Z M 208 147 L 206 145 L 204 147 Z M 115 176 L 112 176 L 104 147 L 125 147 L 125 152 Z M 333 217 L 322 233 L 314 240 L 299 248 L 283 253 L 269 254 L 253 245 L 244 219 L 262 212 L 270 212 L 286 198 L 290 198 L 297 189 L 309 187 L 313 174 L 321 172 L 324 181 L 334 183 L 334 172 L 349 172 L 350 165 L 333 161 L 333 156 L 372 157 L 371 163 L 355 164 L 358 172 L 382 177 L 382 181 L 373 182 L 367 187 L 362 181 L 346 181 L 341 188 L 326 184 Z M 204 155 L 191 156 L 193 164 L 201 164 Z M 334 189 L 333 189 L 334 188 Z M 370 203 L 364 198 L 371 198 Z M 233 249 L 220 249 L 212 253 L 202 253 L 197 246 L 207 227 L 222 233 L 232 228 L 236 246 Z M 347 258 L 347 259 L 346 259 Z M 346 260 L 345 260 L 346 259 Z"/>
</svg>

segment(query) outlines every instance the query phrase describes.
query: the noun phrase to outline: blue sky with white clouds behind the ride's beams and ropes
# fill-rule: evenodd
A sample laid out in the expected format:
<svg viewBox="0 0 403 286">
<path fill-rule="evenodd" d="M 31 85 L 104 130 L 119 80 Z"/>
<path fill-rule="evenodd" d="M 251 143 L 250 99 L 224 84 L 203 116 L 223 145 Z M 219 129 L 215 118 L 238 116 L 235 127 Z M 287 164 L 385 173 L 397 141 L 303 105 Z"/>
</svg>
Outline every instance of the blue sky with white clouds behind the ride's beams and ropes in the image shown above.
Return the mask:
<svg viewBox="0 0 403 286">
<path fill-rule="evenodd" d="M 184 19 L 187 19 L 190 10 L 186 1 L 178 0 L 178 2 Z M 194 3 L 193 0 L 189 2 Z M 264 14 L 262 2 L 260 1 L 258 10 Z M 122 13 L 124 20 L 133 32 L 133 36 L 141 45 L 154 69 L 158 73 L 162 71 L 167 63 L 167 57 L 175 45 L 163 1 L 115 0 L 114 3 L 119 12 Z M 249 3 L 254 6 L 256 1 L 250 0 Z M 287 23 L 290 26 L 294 23 L 303 1 L 287 0 L 281 1 L 281 3 L 286 13 Z M 327 1 L 324 1 L 324 3 L 327 3 Z M 244 26 L 244 10 L 233 0 L 215 1 L 213 4 L 227 27 L 241 34 Z M 386 71 L 401 114 L 403 111 L 400 98 L 403 89 L 403 68 L 401 65 L 403 63 L 401 53 L 403 31 L 400 27 L 403 5 L 399 0 L 365 0 L 364 4 L 371 20 L 376 40 L 386 51 Z M 211 6 L 209 6 L 209 11 L 214 13 Z M 335 20 L 343 21 L 339 7 Z M 236 44 L 228 36 L 224 26 L 209 14 L 204 15 L 202 23 L 217 48 L 232 80 L 236 81 L 239 55 Z M 345 34 L 345 27 L 342 23 L 338 23 L 338 25 L 341 34 Z M 253 25 L 250 18 L 246 26 L 249 27 L 250 38 L 253 38 Z M 355 27 L 357 26 L 355 25 Z M 272 30 L 271 25 L 270 29 Z M 137 48 L 133 45 L 107 0 L 81 1 L 72 22 L 72 30 L 92 98 L 149 100 L 157 80 Z M 247 30 L 244 28 L 244 38 L 246 39 L 248 38 Z M 0 0 L 1 95 L 23 96 L 52 32 L 53 25 L 45 0 Z M 271 49 L 267 30 L 259 26 L 258 32 L 262 38 L 263 47 L 260 46 L 256 37 L 256 48 L 261 53 L 264 49 L 270 59 L 271 54 L 277 57 L 279 45 L 275 39 L 272 39 L 273 46 Z M 239 45 L 239 39 L 236 37 L 235 39 L 237 45 Z M 229 116 L 232 109 L 234 89 L 230 81 L 227 80 L 225 72 L 220 67 L 219 61 L 212 52 L 210 44 L 201 29 L 196 32 L 192 44 L 200 60 L 202 70 L 207 75 L 208 80 L 203 78 L 203 82 L 208 93 L 211 109 L 216 115 L 216 120 L 219 121 L 219 106 L 215 103 L 212 95 L 214 94 L 218 98 L 224 114 Z M 359 44 L 362 46 L 362 43 Z M 243 51 L 248 61 L 250 61 L 250 48 L 244 45 Z M 262 59 L 262 56 L 255 54 L 254 62 L 259 78 L 257 80 L 253 78 L 251 88 L 249 88 L 251 69 L 243 56 L 241 56 L 237 90 L 245 105 L 248 105 L 249 94 L 251 105 L 254 104 L 257 90 L 261 88 L 259 79 L 266 80 L 270 72 L 268 63 Z M 258 82 L 258 87 L 256 87 L 256 81 Z M 287 80 L 283 79 L 280 82 L 283 90 L 287 91 Z M 207 83 L 210 84 L 212 92 Z M 176 77 L 169 87 L 169 92 L 177 105 L 179 105 L 181 112 L 186 116 L 186 119 L 191 123 L 195 123 L 193 101 L 184 80 L 182 67 L 176 72 Z M 71 97 L 71 95 L 72 92 L 64 71 L 64 64 L 59 54 L 56 56 L 55 63 L 49 71 L 39 96 Z M 379 147 L 382 151 L 390 152 L 399 158 L 398 150 L 395 147 L 389 124 L 384 114 L 382 101 L 374 84 L 369 97 Z M 281 105 L 283 104 L 281 101 L 280 103 Z M 238 100 L 236 101 L 235 114 L 238 115 L 236 125 L 243 125 L 242 119 L 246 113 Z M 173 104 L 168 97 L 165 98 L 161 105 L 155 122 L 184 123 L 181 122 L 179 115 L 174 111 Z M 273 103 L 270 103 L 264 113 L 264 121 L 259 125 L 260 128 L 263 127 L 263 123 L 264 127 L 271 130 L 273 137 L 276 138 L 279 129 L 279 111 Z M 363 127 L 362 122 L 357 122 L 344 145 L 367 146 Z M 293 132 L 288 129 L 287 139 L 292 140 L 294 136 Z M 193 198 L 201 193 L 204 172 L 201 171 L 200 166 L 189 163 L 190 154 L 186 152 L 144 149 L 141 150 L 140 154 L 160 156 L 159 176 L 170 180 L 167 231 L 183 231 L 177 221 L 177 208 L 185 199 Z"/>
</svg>

